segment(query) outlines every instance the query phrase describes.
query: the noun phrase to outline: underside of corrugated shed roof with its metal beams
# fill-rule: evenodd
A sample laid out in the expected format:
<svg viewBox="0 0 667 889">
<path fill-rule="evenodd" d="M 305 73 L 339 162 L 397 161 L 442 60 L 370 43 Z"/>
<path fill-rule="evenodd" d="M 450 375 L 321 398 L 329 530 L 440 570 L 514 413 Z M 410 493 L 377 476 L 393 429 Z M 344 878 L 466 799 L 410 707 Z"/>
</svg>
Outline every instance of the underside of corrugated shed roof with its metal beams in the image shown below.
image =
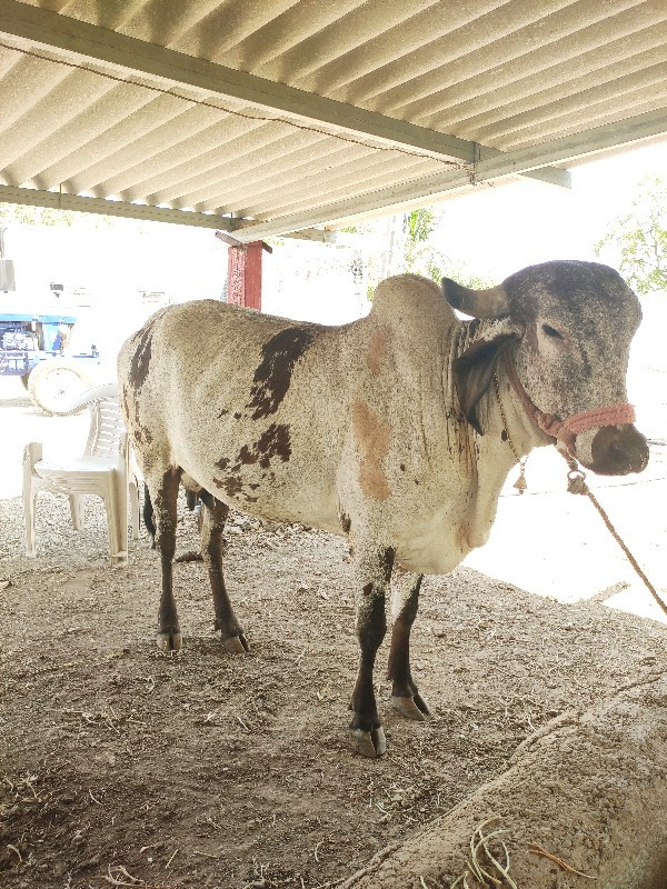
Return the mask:
<svg viewBox="0 0 667 889">
<path fill-rule="evenodd" d="M 249 241 L 567 186 L 667 133 L 666 44 L 665 0 L 0 0 L 0 200 Z"/>
</svg>

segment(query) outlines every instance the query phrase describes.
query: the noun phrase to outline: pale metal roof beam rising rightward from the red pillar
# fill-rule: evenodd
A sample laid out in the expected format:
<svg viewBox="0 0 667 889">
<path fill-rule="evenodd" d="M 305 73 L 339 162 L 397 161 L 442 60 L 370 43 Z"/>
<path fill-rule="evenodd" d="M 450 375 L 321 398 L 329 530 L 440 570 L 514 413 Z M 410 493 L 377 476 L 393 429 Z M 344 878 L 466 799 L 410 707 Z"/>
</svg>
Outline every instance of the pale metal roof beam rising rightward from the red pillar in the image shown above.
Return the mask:
<svg viewBox="0 0 667 889">
<path fill-rule="evenodd" d="M 472 177 L 461 172 L 440 173 L 266 222 L 248 221 L 241 223 L 242 228 L 237 229 L 235 238 L 252 241 L 272 234 L 285 234 L 308 226 L 339 224 L 355 218 L 399 212 L 445 199 L 450 197 L 451 192 L 470 189 L 477 183 L 500 180 L 528 171 L 545 172 L 551 163 L 580 160 L 610 148 L 627 147 L 660 134 L 667 134 L 667 108 L 507 154 L 487 158 L 482 154 Z"/>
</svg>

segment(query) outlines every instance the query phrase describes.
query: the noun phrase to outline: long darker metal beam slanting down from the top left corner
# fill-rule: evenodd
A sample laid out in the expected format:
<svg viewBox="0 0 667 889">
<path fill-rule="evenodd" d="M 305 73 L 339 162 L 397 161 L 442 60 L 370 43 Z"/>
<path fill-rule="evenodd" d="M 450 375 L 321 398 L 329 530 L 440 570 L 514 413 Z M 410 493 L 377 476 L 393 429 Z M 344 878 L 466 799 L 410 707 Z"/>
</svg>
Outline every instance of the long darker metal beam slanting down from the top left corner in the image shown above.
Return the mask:
<svg viewBox="0 0 667 889">
<path fill-rule="evenodd" d="M 323 126 L 331 134 L 367 139 L 445 162 L 472 163 L 479 150 L 465 139 L 197 59 L 18 0 L 0 0 L 0 34 L 14 41 L 28 41 L 30 46 L 57 49 L 78 62 L 101 62 L 127 73 L 158 78 L 165 81 L 166 89 L 175 83 L 196 88 L 209 97 L 232 98 L 271 113 L 279 112 L 305 126 Z M 567 184 L 565 171 L 552 171 L 548 181 Z"/>
</svg>

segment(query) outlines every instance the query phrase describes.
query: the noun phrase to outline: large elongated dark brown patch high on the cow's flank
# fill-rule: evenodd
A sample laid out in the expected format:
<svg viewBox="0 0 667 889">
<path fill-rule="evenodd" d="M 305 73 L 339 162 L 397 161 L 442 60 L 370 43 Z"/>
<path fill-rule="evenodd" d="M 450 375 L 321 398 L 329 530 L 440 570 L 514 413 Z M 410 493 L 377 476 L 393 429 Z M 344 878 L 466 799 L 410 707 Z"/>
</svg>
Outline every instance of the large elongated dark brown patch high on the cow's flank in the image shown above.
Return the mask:
<svg viewBox="0 0 667 889">
<path fill-rule="evenodd" d="M 278 410 L 289 389 L 295 364 L 315 336 L 313 328 L 288 327 L 262 346 L 262 359 L 255 371 L 250 401 L 247 404 L 252 411 L 253 420 L 268 417 Z"/>
</svg>

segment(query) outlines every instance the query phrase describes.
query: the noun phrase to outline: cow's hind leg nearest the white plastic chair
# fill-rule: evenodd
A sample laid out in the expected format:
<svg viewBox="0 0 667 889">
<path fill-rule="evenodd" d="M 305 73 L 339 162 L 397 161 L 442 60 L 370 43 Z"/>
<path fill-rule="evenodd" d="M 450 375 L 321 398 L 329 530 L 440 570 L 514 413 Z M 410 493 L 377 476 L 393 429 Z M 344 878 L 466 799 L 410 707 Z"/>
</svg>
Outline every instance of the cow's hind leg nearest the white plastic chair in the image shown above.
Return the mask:
<svg viewBox="0 0 667 889">
<path fill-rule="evenodd" d="M 176 526 L 178 486 L 181 471 L 170 467 L 158 483 L 148 480 L 153 506 L 157 545 L 162 562 L 162 595 L 158 611 L 158 648 L 178 651 L 182 637 L 173 598 L 173 553 L 176 552 Z"/>
</svg>

